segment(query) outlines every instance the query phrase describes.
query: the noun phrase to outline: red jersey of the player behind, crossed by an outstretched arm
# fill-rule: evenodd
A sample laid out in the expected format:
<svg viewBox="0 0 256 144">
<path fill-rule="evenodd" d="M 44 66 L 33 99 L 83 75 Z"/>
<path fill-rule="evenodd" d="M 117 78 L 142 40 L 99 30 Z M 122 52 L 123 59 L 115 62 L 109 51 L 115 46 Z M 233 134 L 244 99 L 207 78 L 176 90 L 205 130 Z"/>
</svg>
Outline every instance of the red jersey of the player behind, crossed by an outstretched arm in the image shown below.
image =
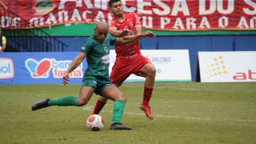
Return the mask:
<svg viewBox="0 0 256 144">
<path fill-rule="evenodd" d="M 138 20 L 138 16 L 135 13 L 129 13 L 125 14 L 125 20 L 123 22 L 119 22 L 117 19 L 112 19 L 110 22 L 110 26 L 117 27 L 117 30 L 134 30 L 135 26 L 141 25 L 141 23 Z M 140 48 L 139 48 L 139 42 L 135 42 L 130 45 L 119 45 L 115 46 L 115 53 L 117 54 L 117 57 L 119 56 L 129 56 L 134 54 L 141 54 Z"/>
</svg>

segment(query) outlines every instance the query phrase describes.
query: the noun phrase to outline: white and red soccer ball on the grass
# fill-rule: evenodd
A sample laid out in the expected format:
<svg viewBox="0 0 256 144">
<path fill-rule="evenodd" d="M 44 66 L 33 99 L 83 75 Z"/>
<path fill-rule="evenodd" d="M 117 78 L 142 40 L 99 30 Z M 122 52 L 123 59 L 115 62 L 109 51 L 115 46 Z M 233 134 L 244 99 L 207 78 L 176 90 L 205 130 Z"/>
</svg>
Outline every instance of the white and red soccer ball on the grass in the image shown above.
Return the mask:
<svg viewBox="0 0 256 144">
<path fill-rule="evenodd" d="M 92 131 L 102 130 L 104 127 L 104 119 L 98 114 L 90 115 L 86 120 L 86 126 Z"/>
</svg>

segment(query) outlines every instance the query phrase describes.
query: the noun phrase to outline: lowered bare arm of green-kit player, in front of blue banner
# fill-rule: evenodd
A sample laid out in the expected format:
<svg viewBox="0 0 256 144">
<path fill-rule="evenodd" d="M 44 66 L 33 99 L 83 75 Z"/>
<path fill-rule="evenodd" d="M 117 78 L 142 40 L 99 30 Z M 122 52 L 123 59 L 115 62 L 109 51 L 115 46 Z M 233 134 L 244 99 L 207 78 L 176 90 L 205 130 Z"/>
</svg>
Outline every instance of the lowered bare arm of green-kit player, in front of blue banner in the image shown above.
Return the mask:
<svg viewBox="0 0 256 144">
<path fill-rule="evenodd" d="M 68 67 L 68 69 L 66 70 L 66 74 L 65 76 L 62 78 L 63 79 L 63 84 L 66 85 L 69 83 L 70 80 L 70 73 L 77 68 L 80 63 L 82 62 L 82 60 L 86 58 L 86 54 L 83 52 L 80 52 L 78 54 L 78 56 L 76 58 L 74 58 L 74 60 L 71 62 L 70 66 Z"/>
</svg>

